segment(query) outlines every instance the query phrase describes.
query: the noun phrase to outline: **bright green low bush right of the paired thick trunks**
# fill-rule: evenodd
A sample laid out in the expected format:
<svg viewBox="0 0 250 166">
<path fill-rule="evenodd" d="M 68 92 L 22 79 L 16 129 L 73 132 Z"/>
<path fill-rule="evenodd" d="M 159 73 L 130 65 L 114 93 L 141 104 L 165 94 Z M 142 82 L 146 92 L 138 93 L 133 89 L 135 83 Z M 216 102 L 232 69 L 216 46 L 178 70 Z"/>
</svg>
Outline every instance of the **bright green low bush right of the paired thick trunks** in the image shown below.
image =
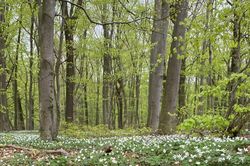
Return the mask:
<svg viewBox="0 0 250 166">
<path fill-rule="evenodd" d="M 196 115 L 184 120 L 178 130 L 184 133 L 221 133 L 229 125 L 229 121 L 219 115 Z"/>
</svg>

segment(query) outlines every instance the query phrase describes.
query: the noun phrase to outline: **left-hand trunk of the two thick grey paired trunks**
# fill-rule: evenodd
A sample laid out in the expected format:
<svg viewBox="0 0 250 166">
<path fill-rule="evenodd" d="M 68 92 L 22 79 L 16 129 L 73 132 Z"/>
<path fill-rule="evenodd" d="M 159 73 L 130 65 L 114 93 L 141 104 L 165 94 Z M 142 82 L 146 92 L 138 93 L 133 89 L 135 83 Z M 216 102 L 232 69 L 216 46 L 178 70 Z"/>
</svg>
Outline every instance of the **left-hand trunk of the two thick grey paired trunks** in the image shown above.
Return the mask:
<svg viewBox="0 0 250 166">
<path fill-rule="evenodd" d="M 166 0 L 155 0 L 155 15 L 151 43 L 154 44 L 150 55 L 148 120 L 147 126 L 153 131 L 158 129 L 161 110 L 163 66 L 166 56 L 169 4 Z"/>
</svg>

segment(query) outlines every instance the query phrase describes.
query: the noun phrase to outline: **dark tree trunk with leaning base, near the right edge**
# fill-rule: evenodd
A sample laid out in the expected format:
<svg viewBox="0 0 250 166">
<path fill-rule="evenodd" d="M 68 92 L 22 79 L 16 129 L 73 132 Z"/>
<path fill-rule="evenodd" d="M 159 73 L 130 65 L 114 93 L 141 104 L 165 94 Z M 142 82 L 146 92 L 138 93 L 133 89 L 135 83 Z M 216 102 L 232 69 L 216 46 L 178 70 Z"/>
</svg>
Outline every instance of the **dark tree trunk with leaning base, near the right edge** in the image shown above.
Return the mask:
<svg viewBox="0 0 250 166">
<path fill-rule="evenodd" d="M 241 24 L 242 19 L 244 19 L 245 14 L 244 12 L 241 13 L 238 9 L 240 9 L 240 3 L 239 0 L 232 1 L 231 8 L 233 11 L 233 42 L 234 46 L 231 48 L 231 66 L 229 68 L 229 75 L 233 76 L 233 74 L 237 75 L 242 73 L 244 70 L 241 71 L 241 41 L 242 41 L 242 32 L 241 32 Z M 249 77 L 249 73 L 248 73 Z M 245 79 L 246 80 L 246 79 Z M 233 134 L 233 136 L 237 136 L 241 130 L 241 128 L 244 126 L 244 124 L 249 120 L 250 112 L 237 112 L 235 106 L 237 104 L 241 105 L 249 105 L 249 100 L 246 102 L 241 103 L 240 98 L 237 96 L 237 90 L 240 84 L 242 84 L 244 81 L 241 77 L 238 78 L 232 78 L 228 83 L 228 110 L 226 113 L 226 118 L 230 119 L 230 115 L 234 114 L 233 119 L 231 120 L 228 128 L 226 129 L 227 132 L 230 134 Z"/>
</svg>

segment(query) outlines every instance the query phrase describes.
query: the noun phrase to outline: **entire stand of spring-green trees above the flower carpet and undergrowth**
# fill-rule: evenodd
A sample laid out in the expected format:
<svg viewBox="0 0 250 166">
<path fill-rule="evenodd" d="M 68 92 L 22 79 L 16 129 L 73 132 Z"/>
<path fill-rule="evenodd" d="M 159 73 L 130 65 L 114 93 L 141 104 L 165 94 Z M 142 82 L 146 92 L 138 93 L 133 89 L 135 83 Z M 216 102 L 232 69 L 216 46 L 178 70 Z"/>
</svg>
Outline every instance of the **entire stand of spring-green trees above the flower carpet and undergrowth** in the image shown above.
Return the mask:
<svg viewBox="0 0 250 166">
<path fill-rule="evenodd" d="M 152 128 L 250 116 L 247 0 L 3 0 L 0 130 Z"/>
</svg>

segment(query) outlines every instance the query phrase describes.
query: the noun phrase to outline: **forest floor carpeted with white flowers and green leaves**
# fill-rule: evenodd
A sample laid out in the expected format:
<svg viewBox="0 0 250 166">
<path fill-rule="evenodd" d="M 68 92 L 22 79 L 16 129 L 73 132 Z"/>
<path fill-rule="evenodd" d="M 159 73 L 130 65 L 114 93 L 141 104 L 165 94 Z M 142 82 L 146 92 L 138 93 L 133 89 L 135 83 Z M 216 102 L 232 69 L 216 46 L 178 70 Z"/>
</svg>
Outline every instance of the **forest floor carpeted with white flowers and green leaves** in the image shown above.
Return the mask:
<svg viewBox="0 0 250 166">
<path fill-rule="evenodd" d="M 250 139 L 147 135 L 57 141 L 0 133 L 0 165 L 250 165 Z"/>
</svg>

